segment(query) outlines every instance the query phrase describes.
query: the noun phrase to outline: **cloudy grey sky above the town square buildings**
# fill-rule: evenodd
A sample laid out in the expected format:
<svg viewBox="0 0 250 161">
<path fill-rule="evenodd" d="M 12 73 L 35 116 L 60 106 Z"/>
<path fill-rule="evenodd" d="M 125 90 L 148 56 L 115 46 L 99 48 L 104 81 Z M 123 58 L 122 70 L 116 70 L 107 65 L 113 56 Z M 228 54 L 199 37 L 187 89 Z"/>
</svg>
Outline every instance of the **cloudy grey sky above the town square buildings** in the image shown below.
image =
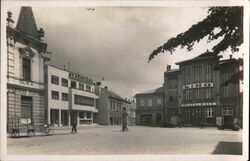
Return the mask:
<svg viewBox="0 0 250 161">
<path fill-rule="evenodd" d="M 206 40 L 187 52 L 149 54 L 207 16 L 200 7 L 33 7 L 38 28 L 45 30 L 51 64 L 88 74 L 123 97 L 160 87 L 167 64 L 193 58 L 212 44 Z M 20 8 L 9 9 L 17 22 Z"/>
</svg>

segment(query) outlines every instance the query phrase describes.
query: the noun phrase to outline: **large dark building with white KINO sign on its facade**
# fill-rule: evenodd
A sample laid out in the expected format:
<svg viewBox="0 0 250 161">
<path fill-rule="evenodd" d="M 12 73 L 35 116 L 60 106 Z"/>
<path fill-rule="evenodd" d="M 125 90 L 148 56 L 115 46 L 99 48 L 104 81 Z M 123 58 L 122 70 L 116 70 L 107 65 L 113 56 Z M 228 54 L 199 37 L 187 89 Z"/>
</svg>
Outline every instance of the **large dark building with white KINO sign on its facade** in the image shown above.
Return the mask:
<svg viewBox="0 0 250 161">
<path fill-rule="evenodd" d="M 238 60 L 219 61 L 206 52 L 176 64 L 179 70 L 165 72 L 166 121 L 214 126 L 241 120 L 239 82 L 223 85 L 239 71 Z"/>
</svg>

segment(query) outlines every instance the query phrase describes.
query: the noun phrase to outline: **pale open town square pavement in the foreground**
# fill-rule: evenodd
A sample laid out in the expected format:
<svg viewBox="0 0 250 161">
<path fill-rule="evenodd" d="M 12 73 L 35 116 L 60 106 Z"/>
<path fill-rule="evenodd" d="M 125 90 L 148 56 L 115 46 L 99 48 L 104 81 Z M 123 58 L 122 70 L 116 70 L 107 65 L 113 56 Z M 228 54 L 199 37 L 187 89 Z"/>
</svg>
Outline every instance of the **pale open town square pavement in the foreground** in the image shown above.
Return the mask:
<svg viewBox="0 0 250 161">
<path fill-rule="evenodd" d="M 70 133 L 70 127 L 54 135 L 7 139 L 8 154 L 85 155 L 85 154 L 233 154 L 242 153 L 242 130 L 216 128 L 161 128 L 92 125 Z"/>
</svg>

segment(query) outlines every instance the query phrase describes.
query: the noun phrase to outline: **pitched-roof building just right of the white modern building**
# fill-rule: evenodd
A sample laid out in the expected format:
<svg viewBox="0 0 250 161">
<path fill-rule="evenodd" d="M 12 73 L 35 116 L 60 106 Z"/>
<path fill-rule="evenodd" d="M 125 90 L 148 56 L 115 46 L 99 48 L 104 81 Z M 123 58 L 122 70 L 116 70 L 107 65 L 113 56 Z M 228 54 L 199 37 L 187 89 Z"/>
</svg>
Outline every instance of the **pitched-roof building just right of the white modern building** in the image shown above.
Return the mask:
<svg viewBox="0 0 250 161">
<path fill-rule="evenodd" d="M 97 85 L 96 87 L 98 89 L 96 93 L 99 94 L 97 122 L 101 125 L 121 125 L 123 108 L 127 109 L 130 102 L 106 86 L 102 88 Z"/>
</svg>

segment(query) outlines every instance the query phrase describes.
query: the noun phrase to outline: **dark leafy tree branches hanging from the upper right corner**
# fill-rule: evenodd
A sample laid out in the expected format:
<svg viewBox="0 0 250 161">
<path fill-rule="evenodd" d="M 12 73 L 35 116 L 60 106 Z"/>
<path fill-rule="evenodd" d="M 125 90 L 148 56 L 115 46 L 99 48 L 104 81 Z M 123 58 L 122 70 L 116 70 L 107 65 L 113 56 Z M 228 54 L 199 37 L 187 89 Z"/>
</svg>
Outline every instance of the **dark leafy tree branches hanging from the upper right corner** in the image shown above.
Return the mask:
<svg viewBox="0 0 250 161">
<path fill-rule="evenodd" d="M 208 16 L 191 26 L 187 31 L 170 38 L 165 44 L 155 49 L 148 58 L 150 62 L 154 56 L 161 52 L 169 51 L 171 54 L 180 45 L 187 47 L 187 51 L 193 49 L 193 45 L 208 36 L 208 42 L 222 38 L 213 46 L 211 53 L 217 56 L 221 51 L 231 47 L 231 51 L 239 51 L 243 43 L 243 7 L 211 7 Z M 219 29 L 215 32 L 215 29 Z"/>
</svg>

